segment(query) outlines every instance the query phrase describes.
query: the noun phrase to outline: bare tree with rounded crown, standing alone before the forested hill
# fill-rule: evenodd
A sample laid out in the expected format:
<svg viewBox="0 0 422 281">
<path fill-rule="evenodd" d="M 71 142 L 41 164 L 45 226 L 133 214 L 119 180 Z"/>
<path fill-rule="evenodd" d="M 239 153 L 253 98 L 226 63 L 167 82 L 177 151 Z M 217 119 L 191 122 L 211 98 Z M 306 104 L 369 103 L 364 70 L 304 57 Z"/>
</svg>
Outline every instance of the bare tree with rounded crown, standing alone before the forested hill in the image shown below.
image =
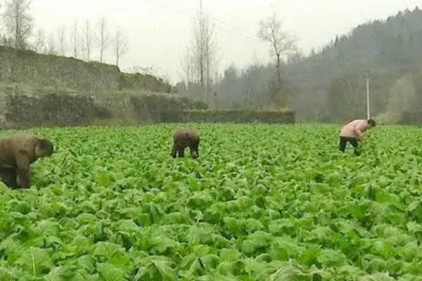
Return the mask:
<svg viewBox="0 0 422 281">
<path fill-rule="evenodd" d="M 260 22 L 258 37 L 262 41 L 271 45 L 271 54 L 276 58 L 277 91 L 280 93 L 282 86 L 281 56 L 288 55 L 296 51 L 295 39 L 287 32 L 283 31 L 281 27 L 281 21 L 277 18 L 276 13 L 267 18 L 267 20 Z"/>
</svg>

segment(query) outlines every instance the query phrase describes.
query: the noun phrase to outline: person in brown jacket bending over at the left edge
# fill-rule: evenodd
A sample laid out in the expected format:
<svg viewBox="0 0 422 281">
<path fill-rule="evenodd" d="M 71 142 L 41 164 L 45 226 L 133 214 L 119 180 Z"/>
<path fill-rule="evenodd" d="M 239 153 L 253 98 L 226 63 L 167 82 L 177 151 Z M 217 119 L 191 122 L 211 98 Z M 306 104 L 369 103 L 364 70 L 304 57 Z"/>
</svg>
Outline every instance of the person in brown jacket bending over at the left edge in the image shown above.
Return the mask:
<svg viewBox="0 0 422 281">
<path fill-rule="evenodd" d="M 52 143 L 37 136 L 16 134 L 0 139 L 0 177 L 9 188 L 30 188 L 30 164 L 53 154 Z"/>
</svg>

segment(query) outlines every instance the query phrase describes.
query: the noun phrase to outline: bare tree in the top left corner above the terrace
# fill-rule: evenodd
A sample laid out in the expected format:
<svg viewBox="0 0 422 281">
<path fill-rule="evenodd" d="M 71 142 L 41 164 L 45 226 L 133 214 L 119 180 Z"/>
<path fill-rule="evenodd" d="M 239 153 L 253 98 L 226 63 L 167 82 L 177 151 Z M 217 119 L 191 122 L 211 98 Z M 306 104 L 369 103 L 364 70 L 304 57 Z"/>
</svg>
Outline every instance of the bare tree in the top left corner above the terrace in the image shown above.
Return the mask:
<svg viewBox="0 0 422 281">
<path fill-rule="evenodd" d="M 18 49 L 27 48 L 27 39 L 33 27 L 32 17 L 29 15 L 30 0 L 6 1 L 3 14 L 7 36 L 11 38 L 12 45 Z"/>
</svg>

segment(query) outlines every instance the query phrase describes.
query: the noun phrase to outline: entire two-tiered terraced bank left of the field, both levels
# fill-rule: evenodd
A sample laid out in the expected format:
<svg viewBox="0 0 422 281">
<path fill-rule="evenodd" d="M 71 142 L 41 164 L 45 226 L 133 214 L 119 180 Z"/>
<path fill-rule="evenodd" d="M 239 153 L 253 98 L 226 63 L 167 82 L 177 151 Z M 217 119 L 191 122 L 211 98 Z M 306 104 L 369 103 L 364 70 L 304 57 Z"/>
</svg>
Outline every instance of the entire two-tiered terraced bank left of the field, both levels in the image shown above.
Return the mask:
<svg viewBox="0 0 422 281">
<path fill-rule="evenodd" d="M 0 47 L 0 128 L 145 124 L 203 103 L 170 94 L 144 74 L 74 58 Z M 169 117 L 170 116 L 170 117 Z"/>
</svg>

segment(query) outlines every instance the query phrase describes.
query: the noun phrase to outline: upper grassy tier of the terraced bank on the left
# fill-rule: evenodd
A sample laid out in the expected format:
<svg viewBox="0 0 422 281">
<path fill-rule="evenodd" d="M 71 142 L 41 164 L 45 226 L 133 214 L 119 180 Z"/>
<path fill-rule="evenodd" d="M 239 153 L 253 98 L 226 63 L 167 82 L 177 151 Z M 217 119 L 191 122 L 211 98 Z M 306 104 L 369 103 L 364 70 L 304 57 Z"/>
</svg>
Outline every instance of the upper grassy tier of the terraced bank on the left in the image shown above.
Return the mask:
<svg viewBox="0 0 422 281">
<path fill-rule="evenodd" d="M 146 90 L 170 93 L 162 79 L 145 74 L 120 72 L 114 65 L 58 55 L 41 55 L 0 46 L 1 84 L 78 91 Z"/>
</svg>

